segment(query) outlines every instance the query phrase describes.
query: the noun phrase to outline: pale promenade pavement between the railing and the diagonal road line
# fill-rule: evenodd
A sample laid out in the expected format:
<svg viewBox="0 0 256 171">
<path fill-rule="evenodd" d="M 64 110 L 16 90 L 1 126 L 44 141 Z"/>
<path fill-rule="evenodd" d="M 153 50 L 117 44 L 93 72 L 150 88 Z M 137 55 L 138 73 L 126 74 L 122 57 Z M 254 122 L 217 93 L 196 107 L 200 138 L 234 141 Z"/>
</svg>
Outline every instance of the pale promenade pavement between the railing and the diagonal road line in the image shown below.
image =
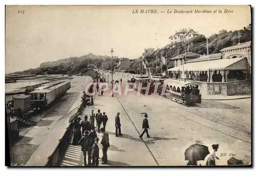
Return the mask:
<svg viewBox="0 0 256 171">
<path fill-rule="evenodd" d="M 143 139 L 139 138 L 138 132 L 136 131 L 131 120 L 126 115 L 116 97 L 111 97 L 110 95 L 96 96 L 94 105 L 88 106 L 83 111 L 81 117 L 83 118 L 84 115 L 89 115 L 92 109 L 94 109 L 95 112 L 97 112 L 98 109 L 100 109 L 101 112 L 105 111 L 109 118 L 108 123 L 106 124 L 106 132 L 109 133 L 110 138 L 110 148 L 108 149 L 108 164 L 101 164 L 102 161 L 99 159 L 99 166 L 157 165 L 150 151 L 148 151 Z M 115 116 L 117 112 L 120 112 L 121 131 L 123 134 L 123 136 L 119 137 L 115 136 Z M 97 135 L 101 140 L 102 133 L 97 133 Z M 100 144 L 100 140 L 99 156 L 101 158 L 102 146 Z M 66 158 L 61 165 L 83 166 L 83 154 L 80 149 L 80 145 L 70 145 L 68 152 L 65 154 Z"/>
</svg>

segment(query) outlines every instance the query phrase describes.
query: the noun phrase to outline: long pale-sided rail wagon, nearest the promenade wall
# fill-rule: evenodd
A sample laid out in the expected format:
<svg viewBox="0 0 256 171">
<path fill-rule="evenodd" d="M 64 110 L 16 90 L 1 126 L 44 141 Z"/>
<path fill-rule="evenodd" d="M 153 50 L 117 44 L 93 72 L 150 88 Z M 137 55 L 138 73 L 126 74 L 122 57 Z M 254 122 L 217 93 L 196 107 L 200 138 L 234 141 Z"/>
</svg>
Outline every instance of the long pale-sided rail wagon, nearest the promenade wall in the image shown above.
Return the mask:
<svg viewBox="0 0 256 171">
<path fill-rule="evenodd" d="M 29 94 L 32 96 L 32 102 L 35 103 L 35 106 L 42 107 L 51 104 L 58 96 L 66 93 L 70 88 L 70 82 L 64 82 L 47 89 L 31 91 Z"/>
</svg>

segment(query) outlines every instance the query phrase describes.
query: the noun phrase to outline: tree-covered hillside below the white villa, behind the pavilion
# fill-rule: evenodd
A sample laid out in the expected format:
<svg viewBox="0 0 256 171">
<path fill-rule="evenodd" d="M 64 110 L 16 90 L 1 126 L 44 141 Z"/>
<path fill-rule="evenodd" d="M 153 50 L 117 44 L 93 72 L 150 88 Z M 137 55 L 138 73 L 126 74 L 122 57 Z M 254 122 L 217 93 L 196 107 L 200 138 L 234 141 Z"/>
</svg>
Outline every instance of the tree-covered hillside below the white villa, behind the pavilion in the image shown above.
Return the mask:
<svg viewBox="0 0 256 171">
<path fill-rule="evenodd" d="M 250 41 L 251 40 L 251 31 L 244 27 L 243 30 L 239 30 L 240 32 L 240 43 Z M 238 44 L 238 30 L 236 31 L 229 31 L 221 30 L 218 34 L 213 34 L 208 38 L 208 52 L 209 54 L 220 53 L 222 48 L 232 46 Z M 194 52 L 197 54 L 207 54 L 207 46 L 206 46 L 206 38 L 203 35 L 199 35 L 189 39 L 187 42 L 182 42 L 173 45 L 166 45 L 163 48 L 159 48 L 158 50 L 154 51 L 152 54 L 145 56 L 146 60 L 148 61 L 148 67 L 151 67 L 153 72 L 156 73 L 156 59 L 158 63 L 158 72 L 161 70 L 161 55 L 163 57 L 167 56 L 167 66 L 168 68 L 173 67 L 174 63 L 168 61 L 168 59 L 173 58 L 178 55 L 178 46 L 179 46 L 179 54 L 185 53 L 185 46 L 186 52 Z M 139 58 L 137 62 L 134 63 L 132 66 L 136 73 L 137 71 L 141 71 L 141 67 L 139 67 L 139 63 L 141 63 L 142 58 Z M 163 70 L 166 70 L 166 65 L 162 66 Z"/>
</svg>

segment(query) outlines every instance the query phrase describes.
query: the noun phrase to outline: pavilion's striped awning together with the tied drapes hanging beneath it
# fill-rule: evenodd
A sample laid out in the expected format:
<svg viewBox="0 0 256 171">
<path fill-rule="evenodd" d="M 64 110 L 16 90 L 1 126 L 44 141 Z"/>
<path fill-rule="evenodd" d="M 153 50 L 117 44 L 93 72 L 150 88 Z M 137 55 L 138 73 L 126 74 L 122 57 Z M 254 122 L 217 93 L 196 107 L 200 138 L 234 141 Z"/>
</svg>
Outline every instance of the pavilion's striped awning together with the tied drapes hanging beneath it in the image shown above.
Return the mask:
<svg viewBox="0 0 256 171">
<path fill-rule="evenodd" d="M 247 75 L 249 74 L 250 71 L 249 68 L 249 63 L 247 59 L 244 57 L 186 63 L 184 65 L 170 68 L 168 69 L 168 71 L 171 71 L 173 73 L 180 73 L 184 70 L 186 71 L 186 73 L 189 72 L 193 74 L 196 80 L 200 80 L 200 74 L 206 74 L 207 82 L 214 82 L 214 80 L 212 79 L 212 76 L 214 74 L 221 75 L 221 82 L 227 82 L 227 77 L 230 72 L 236 71 L 236 74 L 239 74 L 239 70 L 243 72 L 244 75 Z"/>
</svg>

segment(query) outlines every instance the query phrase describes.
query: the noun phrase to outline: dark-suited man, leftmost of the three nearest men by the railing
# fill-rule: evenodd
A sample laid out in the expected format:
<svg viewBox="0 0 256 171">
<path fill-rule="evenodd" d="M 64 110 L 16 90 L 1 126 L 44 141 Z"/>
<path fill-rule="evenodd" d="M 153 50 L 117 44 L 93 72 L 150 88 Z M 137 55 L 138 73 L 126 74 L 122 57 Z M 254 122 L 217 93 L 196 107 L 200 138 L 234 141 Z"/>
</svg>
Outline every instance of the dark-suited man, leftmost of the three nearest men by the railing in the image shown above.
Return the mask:
<svg viewBox="0 0 256 171">
<path fill-rule="evenodd" d="M 88 165 L 91 165 L 91 144 L 88 133 L 88 131 L 84 131 L 83 137 L 78 142 L 82 146 L 84 166 L 87 166 L 86 155 L 88 155 Z"/>
</svg>

